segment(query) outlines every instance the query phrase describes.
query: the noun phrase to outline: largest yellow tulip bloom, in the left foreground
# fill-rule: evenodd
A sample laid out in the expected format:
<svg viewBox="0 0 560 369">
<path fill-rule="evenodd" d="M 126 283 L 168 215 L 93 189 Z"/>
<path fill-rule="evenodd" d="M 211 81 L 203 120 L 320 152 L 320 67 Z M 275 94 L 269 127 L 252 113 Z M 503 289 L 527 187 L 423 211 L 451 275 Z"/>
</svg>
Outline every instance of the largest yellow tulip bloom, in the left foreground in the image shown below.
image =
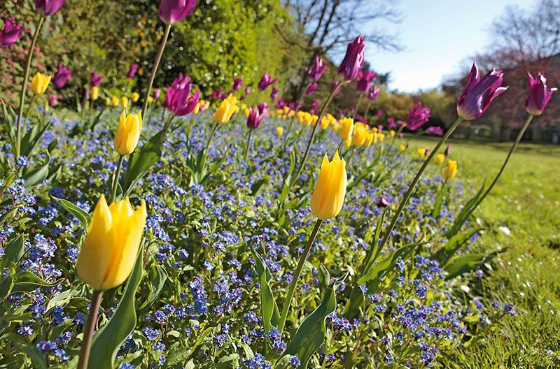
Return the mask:
<svg viewBox="0 0 560 369">
<path fill-rule="evenodd" d="M 144 224 L 144 200 L 134 211 L 128 198 L 108 206 L 102 195 L 78 255 L 80 278 L 101 291 L 123 284 L 136 263 Z"/>
</svg>

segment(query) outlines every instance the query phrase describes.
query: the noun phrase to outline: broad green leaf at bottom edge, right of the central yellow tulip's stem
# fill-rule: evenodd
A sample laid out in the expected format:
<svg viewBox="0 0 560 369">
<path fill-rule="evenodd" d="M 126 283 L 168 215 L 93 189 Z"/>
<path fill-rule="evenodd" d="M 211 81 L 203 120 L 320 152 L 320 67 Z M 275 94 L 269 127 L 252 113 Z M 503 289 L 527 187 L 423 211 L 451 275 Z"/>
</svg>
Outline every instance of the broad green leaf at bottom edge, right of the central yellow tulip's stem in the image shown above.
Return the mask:
<svg viewBox="0 0 560 369">
<path fill-rule="evenodd" d="M 319 304 L 314 312 L 311 312 L 311 314 L 302 321 L 302 324 L 297 327 L 297 331 L 295 331 L 292 340 L 288 344 L 288 347 L 286 347 L 284 354 L 296 355 L 302 362 L 302 366 L 300 366 L 301 369 L 307 368 L 311 356 L 323 345 L 326 332 L 325 319 L 329 314 L 335 311 L 337 307 L 335 291 L 344 281 L 346 275 L 326 289 L 321 304 Z"/>
</svg>

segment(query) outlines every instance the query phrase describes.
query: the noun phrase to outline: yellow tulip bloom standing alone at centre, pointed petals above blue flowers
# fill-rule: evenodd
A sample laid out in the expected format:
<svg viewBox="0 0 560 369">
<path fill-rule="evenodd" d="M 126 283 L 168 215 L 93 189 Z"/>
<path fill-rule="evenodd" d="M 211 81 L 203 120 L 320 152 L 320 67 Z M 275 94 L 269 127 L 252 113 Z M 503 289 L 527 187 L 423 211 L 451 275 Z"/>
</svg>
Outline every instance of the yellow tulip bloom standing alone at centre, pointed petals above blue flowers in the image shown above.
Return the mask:
<svg viewBox="0 0 560 369">
<path fill-rule="evenodd" d="M 316 217 L 324 220 L 337 216 L 344 203 L 347 182 L 346 161 L 340 159 L 338 150 L 330 162 L 325 154 L 311 195 L 311 211 Z"/>
</svg>

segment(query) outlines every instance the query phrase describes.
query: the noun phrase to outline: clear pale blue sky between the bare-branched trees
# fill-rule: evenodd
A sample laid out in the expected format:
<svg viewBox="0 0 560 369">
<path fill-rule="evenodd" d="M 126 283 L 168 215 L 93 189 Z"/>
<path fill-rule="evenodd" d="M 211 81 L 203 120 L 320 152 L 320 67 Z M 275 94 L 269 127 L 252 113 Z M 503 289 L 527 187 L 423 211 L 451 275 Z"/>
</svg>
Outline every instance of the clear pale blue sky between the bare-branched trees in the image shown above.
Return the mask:
<svg viewBox="0 0 560 369">
<path fill-rule="evenodd" d="M 391 71 L 391 89 L 416 92 L 437 87 L 445 75 L 468 68 L 465 58 L 491 43 L 489 27 L 508 5 L 530 9 L 536 0 L 400 0 L 397 32 L 402 52 L 367 49 L 366 59 L 379 72 Z M 378 26 L 380 24 L 377 24 Z"/>
</svg>

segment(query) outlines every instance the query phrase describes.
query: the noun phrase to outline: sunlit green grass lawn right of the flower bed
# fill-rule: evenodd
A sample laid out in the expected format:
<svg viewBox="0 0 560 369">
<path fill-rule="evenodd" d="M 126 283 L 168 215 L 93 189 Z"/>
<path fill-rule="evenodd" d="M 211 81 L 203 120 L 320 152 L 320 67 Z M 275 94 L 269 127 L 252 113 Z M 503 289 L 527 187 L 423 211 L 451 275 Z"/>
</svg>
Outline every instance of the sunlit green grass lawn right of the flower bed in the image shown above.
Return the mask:
<svg viewBox="0 0 560 369">
<path fill-rule="evenodd" d="M 412 153 L 435 138 L 411 138 Z M 480 187 L 496 175 L 510 143 L 451 140 L 457 178 Z M 512 303 L 518 317 L 503 319 L 482 345 L 456 352 L 446 367 L 560 368 L 560 147 L 517 147 L 493 191 L 475 211 L 493 225 L 480 247 L 507 247 L 481 284 L 484 301 Z M 510 235 L 499 231 L 505 226 Z"/>
</svg>

